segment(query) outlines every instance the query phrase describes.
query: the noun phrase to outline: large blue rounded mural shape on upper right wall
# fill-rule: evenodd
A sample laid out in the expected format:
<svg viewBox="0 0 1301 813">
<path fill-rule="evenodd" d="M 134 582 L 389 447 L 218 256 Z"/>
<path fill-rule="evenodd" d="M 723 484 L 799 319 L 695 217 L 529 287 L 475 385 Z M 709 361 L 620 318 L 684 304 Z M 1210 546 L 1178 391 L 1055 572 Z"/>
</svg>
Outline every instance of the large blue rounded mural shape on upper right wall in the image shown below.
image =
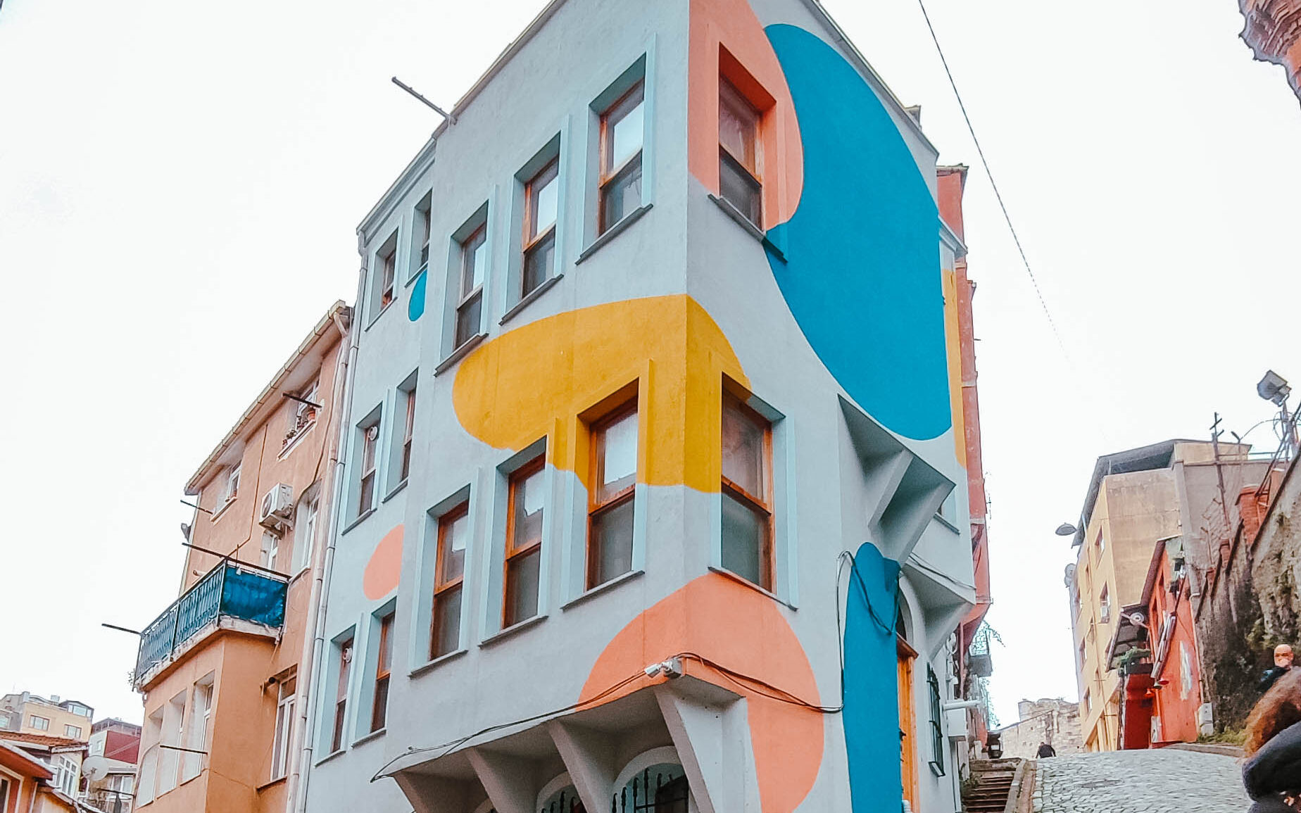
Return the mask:
<svg viewBox="0 0 1301 813">
<path fill-rule="evenodd" d="M 813 351 L 890 431 L 952 424 L 939 273 L 939 213 L 881 100 L 834 48 L 765 29 L 795 101 L 804 191 L 769 232 L 773 276 Z"/>
</svg>

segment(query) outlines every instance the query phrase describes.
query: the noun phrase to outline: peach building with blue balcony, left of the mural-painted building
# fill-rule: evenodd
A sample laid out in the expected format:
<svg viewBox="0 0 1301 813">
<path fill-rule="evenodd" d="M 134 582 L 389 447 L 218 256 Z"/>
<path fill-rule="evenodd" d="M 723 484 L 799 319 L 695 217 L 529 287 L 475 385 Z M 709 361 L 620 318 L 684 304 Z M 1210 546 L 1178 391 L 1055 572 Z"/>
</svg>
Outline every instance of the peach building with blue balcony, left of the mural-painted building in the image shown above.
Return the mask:
<svg viewBox="0 0 1301 813">
<path fill-rule="evenodd" d="M 337 302 L 190 477 L 181 596 L 144 628 L 137 808 L 290 809 L 351 308 Z"/>
</svg>

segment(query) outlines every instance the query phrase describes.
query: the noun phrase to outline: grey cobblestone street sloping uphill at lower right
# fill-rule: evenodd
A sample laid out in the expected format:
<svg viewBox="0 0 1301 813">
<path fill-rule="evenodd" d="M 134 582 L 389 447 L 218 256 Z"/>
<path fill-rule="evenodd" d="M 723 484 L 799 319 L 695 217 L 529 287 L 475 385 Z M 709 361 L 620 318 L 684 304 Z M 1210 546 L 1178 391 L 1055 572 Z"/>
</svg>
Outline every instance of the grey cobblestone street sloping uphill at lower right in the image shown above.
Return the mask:
<svg viewBox="0 0 1301 813">
<path fill-rule="evenodd" d="M 1034 813 L 1245 813 L 1237 760 L 1115 751 L 1039 760 Z"/>
</svg>

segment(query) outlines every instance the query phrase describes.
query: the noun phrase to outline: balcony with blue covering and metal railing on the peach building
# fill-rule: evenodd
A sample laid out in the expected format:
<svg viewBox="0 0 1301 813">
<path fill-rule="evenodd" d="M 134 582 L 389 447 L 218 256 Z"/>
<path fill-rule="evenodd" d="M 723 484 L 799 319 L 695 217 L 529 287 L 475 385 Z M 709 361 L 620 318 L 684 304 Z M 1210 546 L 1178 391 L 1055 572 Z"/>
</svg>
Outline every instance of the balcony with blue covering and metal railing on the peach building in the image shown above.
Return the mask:
<svg viewBox="0 0 1301 813">
<path fill-rule="evenodd" d="M 224 561 L 141 632 L 135 688 L 142 688 L 193 644 L 219 628 L 276 636 L 285 623 L 282 578 Z"/>
</svg>

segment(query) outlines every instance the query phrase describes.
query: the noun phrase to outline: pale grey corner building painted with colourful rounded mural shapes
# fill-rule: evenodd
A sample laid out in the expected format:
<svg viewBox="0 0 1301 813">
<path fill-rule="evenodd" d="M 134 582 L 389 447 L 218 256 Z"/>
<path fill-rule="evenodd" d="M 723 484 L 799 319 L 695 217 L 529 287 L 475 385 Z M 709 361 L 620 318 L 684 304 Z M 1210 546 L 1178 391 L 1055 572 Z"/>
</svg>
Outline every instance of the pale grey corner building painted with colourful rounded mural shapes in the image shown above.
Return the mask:
<svg viewBox="0 0 1301 813">
<path fill-rule="evenodd" d="M 546 7 L 359 229 L 306 809 L 960 809 L 935 159 L 817 3 Z"/>
</svg>

